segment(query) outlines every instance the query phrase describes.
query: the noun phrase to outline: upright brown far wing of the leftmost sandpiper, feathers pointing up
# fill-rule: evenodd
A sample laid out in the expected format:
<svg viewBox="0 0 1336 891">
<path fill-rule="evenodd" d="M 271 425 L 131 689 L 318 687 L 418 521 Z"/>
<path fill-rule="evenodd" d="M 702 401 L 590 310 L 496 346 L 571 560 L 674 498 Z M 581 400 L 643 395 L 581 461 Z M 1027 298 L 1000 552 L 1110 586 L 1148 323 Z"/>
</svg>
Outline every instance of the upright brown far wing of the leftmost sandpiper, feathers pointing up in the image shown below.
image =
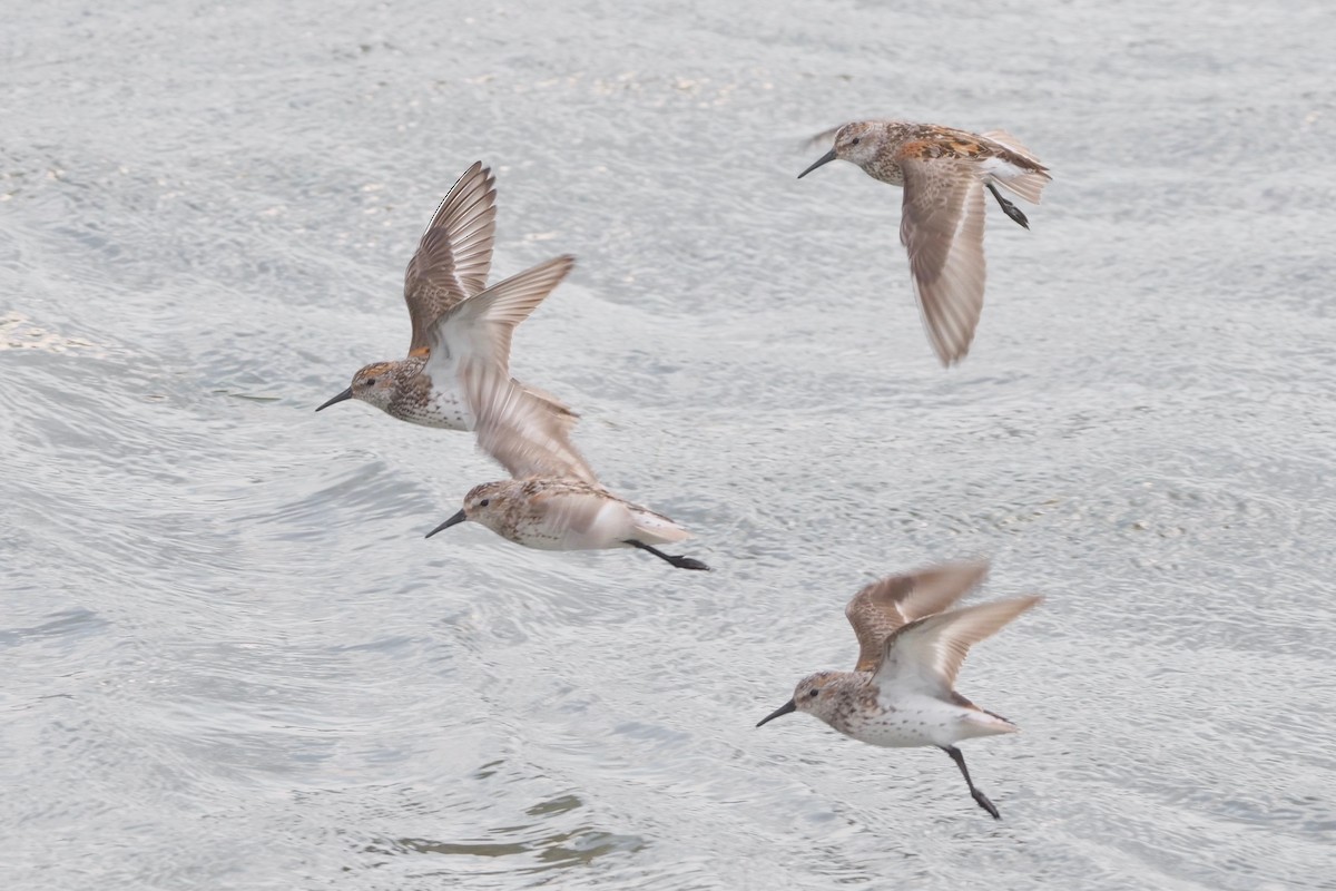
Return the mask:
<svg viewBox="0 0 1336 891">
<path fill-rule="evenodd" d="M 432 325 L 482 290 L 496 234 L 496 180 L 474 162 L 436 208 L 403 273 L 403 301 L 413 322 L 410 350 L 428 343 Z"/>
</svg>

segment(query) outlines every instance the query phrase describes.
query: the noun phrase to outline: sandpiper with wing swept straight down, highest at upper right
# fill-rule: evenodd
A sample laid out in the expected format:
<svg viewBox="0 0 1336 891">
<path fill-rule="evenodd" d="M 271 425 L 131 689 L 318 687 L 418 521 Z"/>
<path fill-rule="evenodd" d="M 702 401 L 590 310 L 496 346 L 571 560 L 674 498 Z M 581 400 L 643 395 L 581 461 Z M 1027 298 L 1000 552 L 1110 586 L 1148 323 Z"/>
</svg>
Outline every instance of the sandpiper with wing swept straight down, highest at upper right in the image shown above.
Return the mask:
<svg viewBox="0 0 1336 891">
<path fill-rule="evenodd" d="M 904 120 L 856 120 L 835 130 L 835 146 L 798 175 L 835 159 L 872 179 L 904 187 L 900 243 L 929 341 L 943 365 L 965 358 L 983 310 L 983 190 L 1021 226 L 1030 220 L 998 186 L 1039 203 L 1049 170 L 1010 134 L 971 134 Z"/>
</svg>

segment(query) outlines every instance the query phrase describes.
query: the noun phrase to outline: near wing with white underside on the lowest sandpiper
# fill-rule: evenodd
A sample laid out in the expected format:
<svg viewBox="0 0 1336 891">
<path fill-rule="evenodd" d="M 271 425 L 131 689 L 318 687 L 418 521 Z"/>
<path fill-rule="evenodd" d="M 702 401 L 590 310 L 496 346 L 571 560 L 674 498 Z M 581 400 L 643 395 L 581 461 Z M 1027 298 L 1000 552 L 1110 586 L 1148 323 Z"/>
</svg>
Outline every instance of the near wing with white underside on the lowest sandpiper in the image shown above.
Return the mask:
<svg viewBox="0 0 1336 891">
<path fill-rule="evenodd" d="M 912 621 L 886 641 L 872 680 L 883 695 L 949 696 L 970 647 L 997 633 L 1042 597 L 1017 597 L 953 609 Z"/>
</svg>

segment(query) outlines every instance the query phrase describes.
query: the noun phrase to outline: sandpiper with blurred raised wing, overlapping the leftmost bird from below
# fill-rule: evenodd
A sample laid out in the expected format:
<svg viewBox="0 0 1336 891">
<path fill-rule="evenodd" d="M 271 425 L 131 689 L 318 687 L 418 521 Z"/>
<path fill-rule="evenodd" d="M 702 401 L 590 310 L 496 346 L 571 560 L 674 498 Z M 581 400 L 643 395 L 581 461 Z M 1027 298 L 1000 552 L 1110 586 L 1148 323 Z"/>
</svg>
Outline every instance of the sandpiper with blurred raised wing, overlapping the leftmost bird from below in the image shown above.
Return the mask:
<svg viewBox="0 0 1336 891">
<path fill-rule="evenodd" d="M 477 411 L 478 448 L 512 478 L 474 486 L 464 508 L 428 538 L 472 520 L 526 548 L 639 548 L 679 569 L 709 569 L 656 546 L 692 536 L 668 517 L 604 489 L 570 442 L 568 415 L 484 363 L 466 366 L 461 379 Z"/>
</svg>

